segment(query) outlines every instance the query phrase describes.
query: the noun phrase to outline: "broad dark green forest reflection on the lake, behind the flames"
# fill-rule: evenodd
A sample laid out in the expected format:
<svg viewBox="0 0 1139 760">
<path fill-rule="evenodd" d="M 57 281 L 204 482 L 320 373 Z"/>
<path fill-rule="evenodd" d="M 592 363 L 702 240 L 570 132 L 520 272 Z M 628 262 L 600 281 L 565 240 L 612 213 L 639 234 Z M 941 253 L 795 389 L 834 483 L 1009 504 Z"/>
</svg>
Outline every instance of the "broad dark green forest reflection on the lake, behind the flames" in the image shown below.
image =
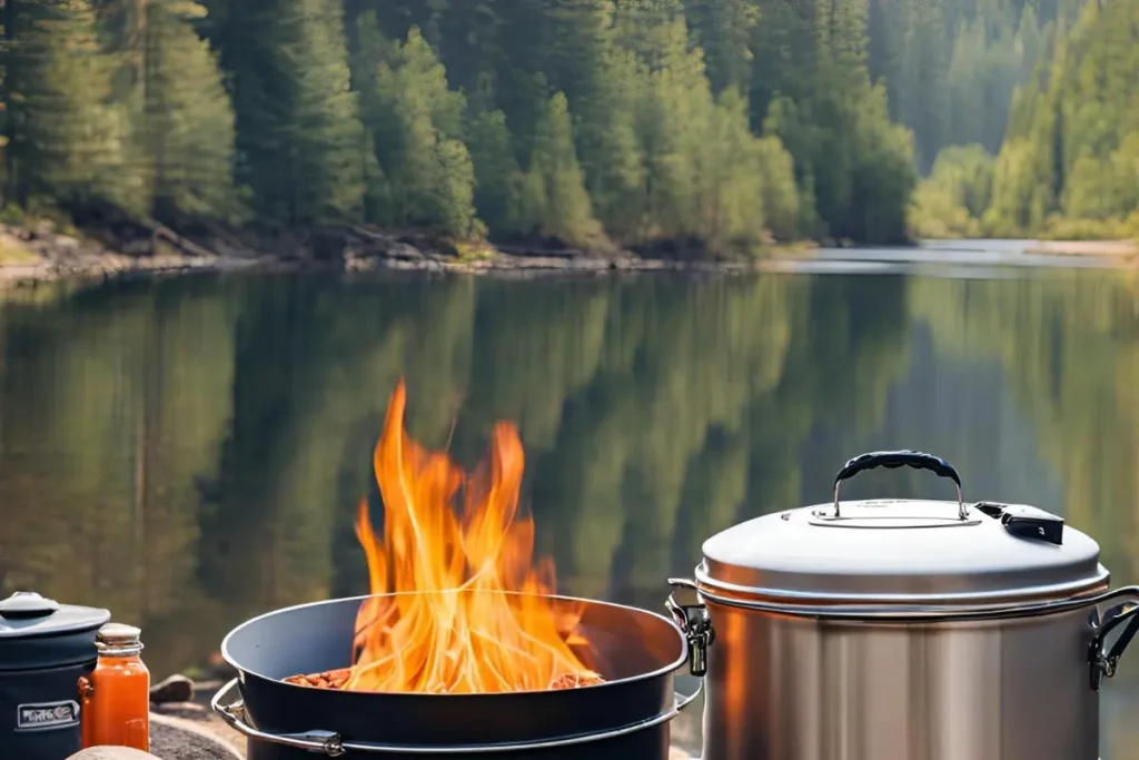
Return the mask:
<svg viewBox="0 0 1139 760">
<path fill-rule="evenodd" d="M 108 285 L 2 312 L 0 585 L 110 606 L 156 671 L 262 610 L 362 590 L 352 507 L 395 378 L 467 463 L 516 419 L 573 593 L 671 569 L 800 500 L 820 418 L 880 415 L 895 278 Z M 457 426 L 456 426 L 457 425 Z M 451 439 L 454 427 L 453 440 Z"/>
</svg>

